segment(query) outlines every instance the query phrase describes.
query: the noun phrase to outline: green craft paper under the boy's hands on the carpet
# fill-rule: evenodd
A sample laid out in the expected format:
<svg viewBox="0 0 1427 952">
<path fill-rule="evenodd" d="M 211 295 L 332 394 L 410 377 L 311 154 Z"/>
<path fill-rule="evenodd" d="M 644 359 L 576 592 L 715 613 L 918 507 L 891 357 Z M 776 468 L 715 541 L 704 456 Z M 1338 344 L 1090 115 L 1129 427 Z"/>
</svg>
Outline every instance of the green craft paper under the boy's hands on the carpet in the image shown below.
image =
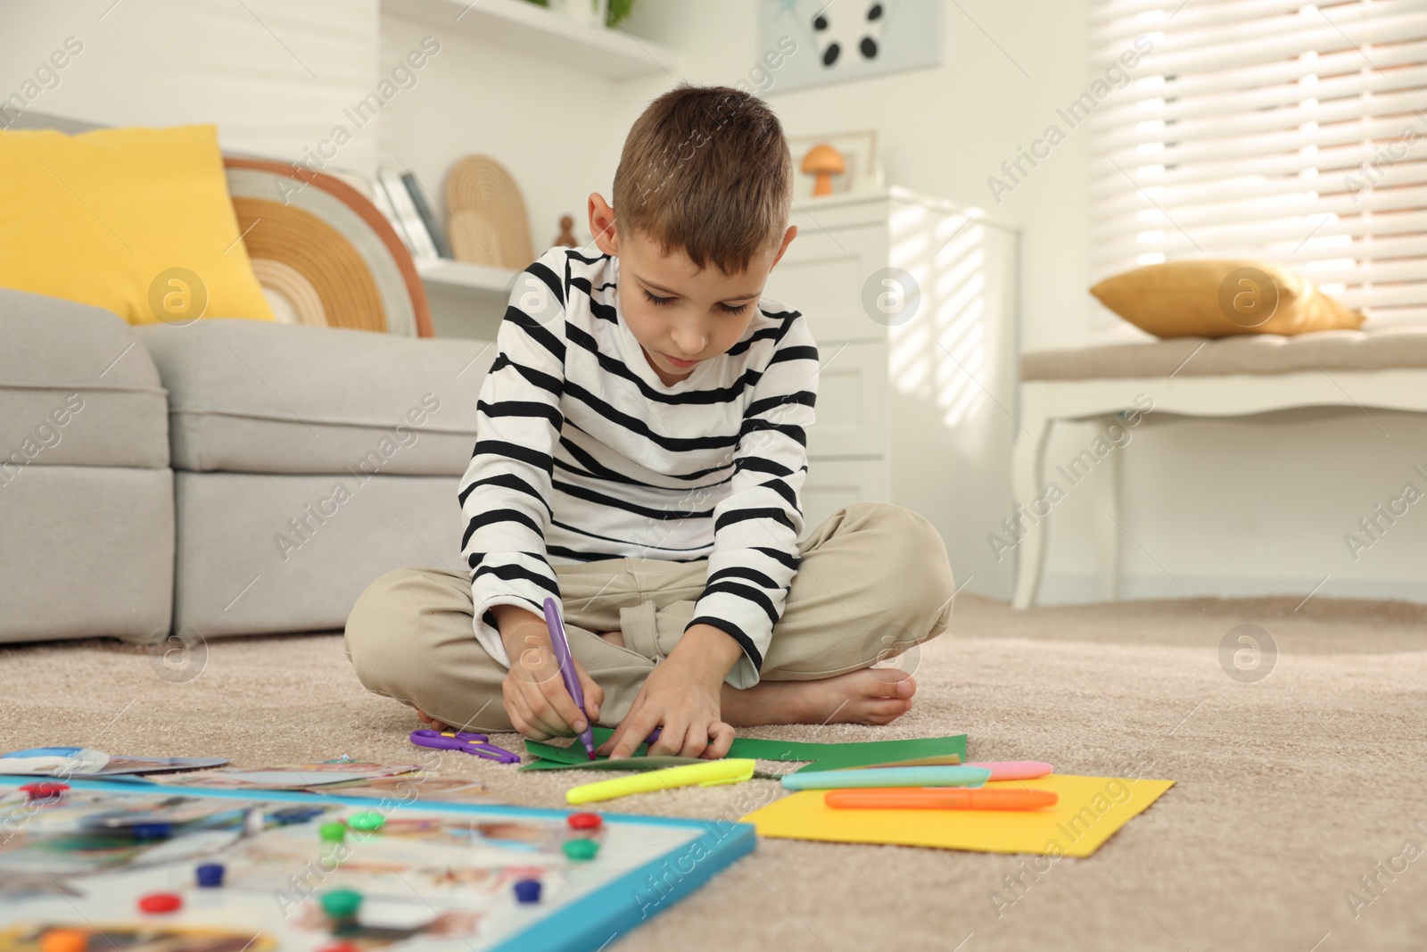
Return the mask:
<svg viewBox="0 0 1427 952">
<path fill-rule="evenodd" d="M 595 728 L 595 746 L 609 739 L 614 734 L 609 728 Z M 641 756 L 646 748 L 644 745 L 635 751 L 634 759 L 639 768 L 624 766 L 621 761 L 589 759 L 585 745 L 578 739 L 569 746 L 541 744 L 539 741 L 525 741 L 525 749 L 539 758 L 531 764 L 521 765 L 522 771 L 561 771 L 575 766 L 588 768 L 598 765 L 601 769 L 654 769 L 648 766 L 655 761 L 691 762 L 691 758 L 645 758 Z M 872 764 L 886 764 L 888 761 L 910 761 L 919 756 L 936 756 L 942 754 L 956 754 L 966 761 L 966 735 L 953 734 L 949 736 L 912 738 L 906 741 L 852 741 L 848 744 L 815 744 L 811 741 L 765 741 L 762 738 L 741 736 L 733 738 L 729 756 L 746 756 L 758 761 L 809 761 L 799 771 L 836 771 L 849 766 L 869 766 Z M 616 766 L 619 765 L 619 766 Z M 674 764 L 664 764 L 669 766 Z M 795 771 L 796 772 L 796 771 Z"/>
</svg>

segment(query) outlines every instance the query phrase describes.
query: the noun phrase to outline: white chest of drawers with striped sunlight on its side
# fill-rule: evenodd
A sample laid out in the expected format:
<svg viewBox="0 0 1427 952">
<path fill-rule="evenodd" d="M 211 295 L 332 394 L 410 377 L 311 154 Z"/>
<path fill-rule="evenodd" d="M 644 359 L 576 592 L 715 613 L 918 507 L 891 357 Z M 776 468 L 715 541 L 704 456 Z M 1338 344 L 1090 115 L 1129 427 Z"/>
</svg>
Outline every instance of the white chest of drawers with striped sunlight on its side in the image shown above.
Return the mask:
<svg viewBox="0 0 1427 952">
<path fill-rule="evenodd" d="M 822 364 L 808 530 L 860 500 L 903 505 L 958 585 L 1009 598 L 1015 559 L 986 535 L 1013 505 L 1015 230 L 898 187 L 802 200 L 792 223 L 765 294 L 802 311 Z"/>
</svg>

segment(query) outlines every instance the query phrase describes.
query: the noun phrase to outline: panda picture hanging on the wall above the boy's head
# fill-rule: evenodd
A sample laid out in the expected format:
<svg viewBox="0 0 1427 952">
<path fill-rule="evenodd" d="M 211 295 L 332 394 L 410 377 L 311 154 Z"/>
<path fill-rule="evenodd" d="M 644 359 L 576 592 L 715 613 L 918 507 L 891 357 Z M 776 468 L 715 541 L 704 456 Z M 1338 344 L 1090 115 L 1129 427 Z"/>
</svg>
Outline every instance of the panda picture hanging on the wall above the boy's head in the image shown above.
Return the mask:
<svg viewBox="0 0 1427 952">
<path fill-rule="evenodd" d="M 763 94 L 938 66 L 942 6 L 943 0 L 759 0 L 759 49 L 785 53 Z"/>
</svg>

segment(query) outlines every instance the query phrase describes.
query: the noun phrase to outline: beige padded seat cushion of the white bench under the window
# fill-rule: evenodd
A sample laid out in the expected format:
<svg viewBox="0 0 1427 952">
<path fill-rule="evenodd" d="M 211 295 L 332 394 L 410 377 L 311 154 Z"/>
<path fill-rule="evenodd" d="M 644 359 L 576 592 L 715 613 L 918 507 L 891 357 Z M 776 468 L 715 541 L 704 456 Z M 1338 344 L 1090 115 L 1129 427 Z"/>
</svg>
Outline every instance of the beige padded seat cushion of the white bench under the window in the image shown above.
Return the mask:
<svg viewBox="0 0 1427 952">
<path fill-rule="evenodd" d="M 1143 344 L 1033 351 L 1020 358 L 1020 378 L 1153 378 L 1172 374 L 1219 377 L 1414 367 L 1427 367 L 1427 327 L 1317 331 L 1297 337 L 1182 337 Z"/>
</svg>

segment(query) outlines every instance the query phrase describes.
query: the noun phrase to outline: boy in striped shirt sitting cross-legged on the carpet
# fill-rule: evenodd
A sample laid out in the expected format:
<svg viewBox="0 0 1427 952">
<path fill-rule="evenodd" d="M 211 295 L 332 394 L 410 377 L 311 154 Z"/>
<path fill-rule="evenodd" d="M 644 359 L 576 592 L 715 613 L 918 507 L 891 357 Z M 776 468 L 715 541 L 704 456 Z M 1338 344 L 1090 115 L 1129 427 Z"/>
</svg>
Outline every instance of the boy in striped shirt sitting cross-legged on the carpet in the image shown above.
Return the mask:
<svg viewBox="0 0 1427 952">
<path fill-rule="evenodd" d="M 818 348 L 762 297 L 798 234 L 792 161 L 755 96 L 681 86 L 635 121 L 601 254 L 555 247 L 517 284 L 461 480 L 469 572 L 390 572 L 347 622 L 361 682 L 445 729 L 545 739 L 618 725 L 628 756 L 722 756 L 735 726 L 886 724 L 946 629 L 940 537 L 860 502 L 803 542 Z M 585 711 L 541 614 L 561 601 Z"/>
</svg>

